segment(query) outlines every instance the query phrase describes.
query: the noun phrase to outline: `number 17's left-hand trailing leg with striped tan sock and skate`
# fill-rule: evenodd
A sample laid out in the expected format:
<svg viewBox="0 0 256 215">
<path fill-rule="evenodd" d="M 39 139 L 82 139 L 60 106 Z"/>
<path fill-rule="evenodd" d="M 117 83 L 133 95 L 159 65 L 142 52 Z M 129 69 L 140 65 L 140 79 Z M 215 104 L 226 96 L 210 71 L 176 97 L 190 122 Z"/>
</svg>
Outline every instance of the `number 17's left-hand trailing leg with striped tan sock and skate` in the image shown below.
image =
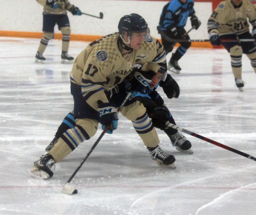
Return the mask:
<svg viewBox="0 0 256 215">
<path fill-rule="evenodd" d="M 51 178 L 53 176 L 54 163 L 68 156 L 81 142 L 90 139 L 97 131 L 98 111 L 84 102 L 81 86 L 71 83 L 71 93 L 74 98 L 76 126 L 63 133 L 49 153 L 34 162 L 34 166 L 30 170 L 34 177 Z"/>
</svg>

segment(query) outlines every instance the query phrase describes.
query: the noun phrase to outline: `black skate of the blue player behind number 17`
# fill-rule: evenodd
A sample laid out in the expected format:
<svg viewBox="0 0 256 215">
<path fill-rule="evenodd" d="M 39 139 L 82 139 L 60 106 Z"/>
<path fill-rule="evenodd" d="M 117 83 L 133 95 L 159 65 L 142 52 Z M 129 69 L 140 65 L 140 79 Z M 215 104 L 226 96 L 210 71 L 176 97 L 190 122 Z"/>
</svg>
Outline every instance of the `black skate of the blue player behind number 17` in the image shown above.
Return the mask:
<svg viewBox="0 0 256 215">
<path fill-rule="evenodd" d="M 191 142 L 186 139 L 181 133 L 177 131 L 174 135 L 168 135 L 172 145 L 180 152 L 193 154 L 191 150 Z"/>
</svg>

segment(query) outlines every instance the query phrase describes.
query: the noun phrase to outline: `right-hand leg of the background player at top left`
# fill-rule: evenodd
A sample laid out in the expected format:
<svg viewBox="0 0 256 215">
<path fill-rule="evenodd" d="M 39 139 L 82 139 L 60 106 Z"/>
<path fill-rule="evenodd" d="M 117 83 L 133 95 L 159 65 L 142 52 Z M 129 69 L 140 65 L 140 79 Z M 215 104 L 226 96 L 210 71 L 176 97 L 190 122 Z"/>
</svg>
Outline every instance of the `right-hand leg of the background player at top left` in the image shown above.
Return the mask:
<svg viewBox="0 0 256 215">
<path fill-rule="evenodd" d="M 57 24 L 62 34 L 61 63 L 73 63 L 74 58 L 68 54 L 71 34 L 68 15 L 59 16 Z"/>
</svg>

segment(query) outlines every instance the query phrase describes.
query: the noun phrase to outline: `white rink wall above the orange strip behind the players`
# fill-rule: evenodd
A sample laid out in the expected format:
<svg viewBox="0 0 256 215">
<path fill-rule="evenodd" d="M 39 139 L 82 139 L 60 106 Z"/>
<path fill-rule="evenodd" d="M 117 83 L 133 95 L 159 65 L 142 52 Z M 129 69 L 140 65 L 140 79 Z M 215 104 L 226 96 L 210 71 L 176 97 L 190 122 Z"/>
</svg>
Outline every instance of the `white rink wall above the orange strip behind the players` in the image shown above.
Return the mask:
<svg viewBox="0 0 256 215">
<path fill-rule="evenodd" d="M 36 0 L 0 0 L 0 31 L 41 32 L 42 6 Z M 160 38 L 156 27 L 166 1 L 121 1 L 121 0 L 70 0 L 84 13 L 99 15 L 103 19 L 87 15 L 73 16 L 68 12 L 72 34 L 103 36 L 117 31 L 119 19 L 126 14 L 138 13 L 145 18 L 154 37 Z M 207 19 L 212 11 L 211 3 L 195 3 L 196 14 L 202 22 L 198 31 L 189 35 L 192 39 L 208 38 Z M 191 28 L 188 19 L 186 29 Z M 57 26 L 55 32 L 59 33 Z"/>
</svg>

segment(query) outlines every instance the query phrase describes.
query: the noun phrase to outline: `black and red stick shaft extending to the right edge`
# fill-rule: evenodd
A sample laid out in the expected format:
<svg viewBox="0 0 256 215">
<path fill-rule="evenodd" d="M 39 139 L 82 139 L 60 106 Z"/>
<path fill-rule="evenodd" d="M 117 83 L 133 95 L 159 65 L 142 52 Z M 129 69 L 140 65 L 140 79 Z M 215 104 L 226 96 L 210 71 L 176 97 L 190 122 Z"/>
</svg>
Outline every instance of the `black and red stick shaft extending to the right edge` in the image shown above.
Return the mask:
<svg viewBox="0 0 256 215">
<path fill-rule="evenodd" d="M 209 139 L 209 138 L 207 138 L 207 137 L 201 136 L 201 135 L 196 134 L 196 133 L 194 133 L 194 132 L 188 131 L 188 130 L 186 130 L 186 129 L 184 129 L 184 128 L 180 128 L 179 126 L 176 126 L 176 125 L 174 125 L 174 124 L 172 124 L 172 123 L 167 122 L 167 123 L 166 123 L 166 126 L 167 126 L 167 127 L 174 128 L 174 129 L 177 129 L 177 130 L 182 131 L 182 132 L 184 132 L 184 133 L 186 133 L 186 134 L 189 134 L 189 135 L 191 135 L 191 136 L 194 136 L 194 137 L 197 137 L 197 138 L 199 138 L 199 139 L 202 139 L 202 140 L 204 140 L 204 141 L 206 141 L 206 142 L 209 142 L 210 144 L 214 144 L 214 145 L 216 145 L 216 146 L 218 146 L 218 147 L 221 147 L 221 148 L 223 148 L 223 149 L 226 149 L 226 150 L 228 150 L 228 151 L 237 153 L 237 154 L 242 155 L 242 156 L 244 156 L 244 157 L 246 157 L 246 158 L 249 158 L 249 159 L 252 159 L 252 160 L 256 161 L 256 157 L 253 157 L 253 156 L 251 156 L 251 155 L 248 155 L 248 154 L 246 154 L 246 153 L 244 153 L 244 152 L 241 152 L 241 151 L 239 151 L 239 150 L 233 149 L 233 148 L 228 147 L 228 146 L 226 146 L 226 145 L 220 144 L 220 142 L 217 142 L 217 141 L 215 141 L 215 140 L 212 140 L 212 139 Z"/>
</svg>

